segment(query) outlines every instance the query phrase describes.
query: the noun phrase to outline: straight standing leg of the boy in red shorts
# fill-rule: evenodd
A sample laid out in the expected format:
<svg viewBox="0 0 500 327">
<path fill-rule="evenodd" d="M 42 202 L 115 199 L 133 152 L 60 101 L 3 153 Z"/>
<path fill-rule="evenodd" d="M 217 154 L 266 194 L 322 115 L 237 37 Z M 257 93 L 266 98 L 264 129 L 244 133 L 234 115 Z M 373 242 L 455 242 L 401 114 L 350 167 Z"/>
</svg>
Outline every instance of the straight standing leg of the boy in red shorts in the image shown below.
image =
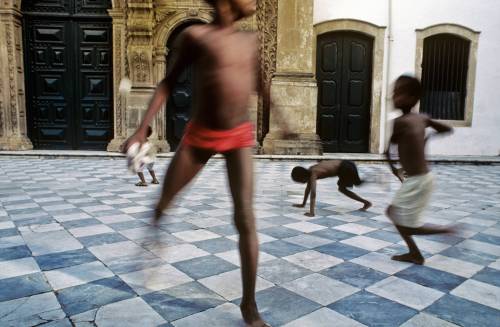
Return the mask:
<svg viewBox="0 0 500 327">
<path fill-rule="evenodd" d="M 238 149 L 225 154 L 229 186 L 234 202 L 234 222 L 240 234 L 241 276 L 243 298 L 241 313 L 250 326 L 267 326 L 255 303 L 255 281 L 259 245 L 253 214 L 253 162 L 250 148 Z"/>
</svg>

